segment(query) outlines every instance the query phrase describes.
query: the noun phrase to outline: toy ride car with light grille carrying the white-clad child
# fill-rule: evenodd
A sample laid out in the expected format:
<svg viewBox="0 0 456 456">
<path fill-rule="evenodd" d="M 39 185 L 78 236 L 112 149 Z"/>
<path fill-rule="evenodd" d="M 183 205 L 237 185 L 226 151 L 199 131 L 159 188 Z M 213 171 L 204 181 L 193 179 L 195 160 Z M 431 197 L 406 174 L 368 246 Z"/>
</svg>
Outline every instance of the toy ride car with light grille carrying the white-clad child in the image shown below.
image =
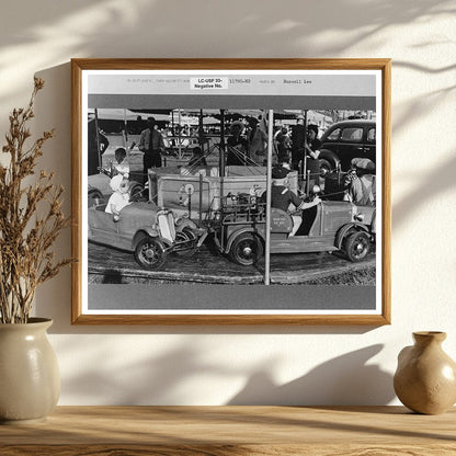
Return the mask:
<svg viewBox="0 0 456 456">
<path fill-rule="evenodd" d="M 124 207 L 118 221 L 105 212 L 106 203 L 88 210 L 89 241 L 134 252 L 138 264 L 158 269 L 168 254 L 190 256 L 203 243 L 206 230 L 189 217 L 159 208 L 152 202 L 136 202 Z"/>
</svg>

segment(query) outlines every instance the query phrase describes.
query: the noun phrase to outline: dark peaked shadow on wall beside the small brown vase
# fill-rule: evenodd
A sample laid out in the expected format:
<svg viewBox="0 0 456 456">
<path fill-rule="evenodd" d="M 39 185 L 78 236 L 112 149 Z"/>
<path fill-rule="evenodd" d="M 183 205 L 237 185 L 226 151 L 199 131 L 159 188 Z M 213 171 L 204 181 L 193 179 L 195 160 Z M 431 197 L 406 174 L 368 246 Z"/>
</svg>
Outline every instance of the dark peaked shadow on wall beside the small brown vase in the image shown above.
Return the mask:
<svg viewBox="0 0 456 456">
<path fill-rule="evenodd" d="M 259 371 L 227 404 L 388 403 L 395 398 L 392 376 L 376 364 L 367 364 L 383 347 L 383 344 L 376 344 L 346 353 L 283 385 L 277 385 L 267 369 Z"/>
</svg>

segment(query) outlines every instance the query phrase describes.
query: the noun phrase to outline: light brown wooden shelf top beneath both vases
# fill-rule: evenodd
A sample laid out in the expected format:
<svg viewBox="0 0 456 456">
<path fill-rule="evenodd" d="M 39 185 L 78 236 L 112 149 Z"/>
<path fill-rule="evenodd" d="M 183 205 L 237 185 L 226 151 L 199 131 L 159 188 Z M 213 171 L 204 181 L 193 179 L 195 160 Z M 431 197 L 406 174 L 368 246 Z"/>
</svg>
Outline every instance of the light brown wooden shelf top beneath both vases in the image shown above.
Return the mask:
<svg viewBox="0 0 456 456">
<path fill-rule="evenodd" d="M 456 455 L 456 409 L 402 407 L 58 407 L 0 426 L 0 455 Z"/>
</svg>

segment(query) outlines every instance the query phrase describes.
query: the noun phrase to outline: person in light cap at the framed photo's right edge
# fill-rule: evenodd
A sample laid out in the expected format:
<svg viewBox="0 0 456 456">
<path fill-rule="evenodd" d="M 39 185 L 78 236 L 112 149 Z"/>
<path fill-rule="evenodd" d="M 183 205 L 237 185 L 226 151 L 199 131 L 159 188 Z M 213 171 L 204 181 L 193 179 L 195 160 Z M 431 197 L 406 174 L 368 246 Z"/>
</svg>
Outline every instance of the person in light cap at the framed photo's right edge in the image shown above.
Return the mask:
<svg viewBox="0 0 456 456">
<path fill-rule="evenodd" d="M 345 183 L 349 189 L 344 200 L 361 206 L 375 206 L 375 163 L 372 160 L 352 159 Z"/>
</svg>

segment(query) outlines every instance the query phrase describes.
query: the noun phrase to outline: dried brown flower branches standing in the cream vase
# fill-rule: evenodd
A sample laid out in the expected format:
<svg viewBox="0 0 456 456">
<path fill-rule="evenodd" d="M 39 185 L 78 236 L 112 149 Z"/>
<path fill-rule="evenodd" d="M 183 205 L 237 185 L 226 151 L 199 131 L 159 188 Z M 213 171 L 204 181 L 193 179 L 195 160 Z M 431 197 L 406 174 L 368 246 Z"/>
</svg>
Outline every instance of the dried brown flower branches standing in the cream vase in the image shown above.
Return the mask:
<svg viewBox="0 0 456 456">
<path fill-rule="evenodd" d="M 35 78 L 29 105 L 10 115 L 3 153 L 10 155 L 7 167 L 0 164 L 0 322 L 26 323 L 36 287 L 55 277 L 71 259 L 55 261 L 49 249 L 60 231 L 69 225 L 61 210 L 64 187 L 53 183 L 54 172 L 41 171 L 33 184 L 25 180 L 35 174 L 43 145 L 54 137 L 44 132 L 26 149 L 31 133 L 26 123 L 34 117 L 35 96 L 44 87 Z"/>
</svg>

